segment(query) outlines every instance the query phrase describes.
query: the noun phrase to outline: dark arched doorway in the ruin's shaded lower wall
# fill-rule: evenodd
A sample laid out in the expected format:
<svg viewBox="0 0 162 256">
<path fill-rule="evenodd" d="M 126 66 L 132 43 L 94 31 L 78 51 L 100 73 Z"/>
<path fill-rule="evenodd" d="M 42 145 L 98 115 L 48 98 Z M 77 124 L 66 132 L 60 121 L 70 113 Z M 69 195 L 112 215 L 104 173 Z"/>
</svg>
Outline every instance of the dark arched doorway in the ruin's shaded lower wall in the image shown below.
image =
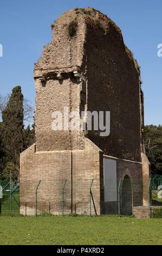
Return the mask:
<svg viewBox="0 0 162 256">
<path fill-rule="evenodd" d="M 132 185 L 128 175 L 124 177 L 122 182 L 122 197 L 121 197 L 121 214 L 132 215 Z"/>
</svg>

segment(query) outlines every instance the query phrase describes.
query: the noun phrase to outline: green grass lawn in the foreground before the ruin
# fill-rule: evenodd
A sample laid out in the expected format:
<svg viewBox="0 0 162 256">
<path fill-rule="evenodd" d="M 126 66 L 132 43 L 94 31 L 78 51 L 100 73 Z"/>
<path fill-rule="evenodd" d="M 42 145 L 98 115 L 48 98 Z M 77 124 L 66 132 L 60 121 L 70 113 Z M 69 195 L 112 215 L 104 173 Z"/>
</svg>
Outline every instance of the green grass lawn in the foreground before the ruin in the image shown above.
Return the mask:
<svg viewBox="0 0 162 256">
<path fill-rule="evenodd" d="M 0 217 L 0 245 L 162 245 L 162 219 Z"/>
</svg>

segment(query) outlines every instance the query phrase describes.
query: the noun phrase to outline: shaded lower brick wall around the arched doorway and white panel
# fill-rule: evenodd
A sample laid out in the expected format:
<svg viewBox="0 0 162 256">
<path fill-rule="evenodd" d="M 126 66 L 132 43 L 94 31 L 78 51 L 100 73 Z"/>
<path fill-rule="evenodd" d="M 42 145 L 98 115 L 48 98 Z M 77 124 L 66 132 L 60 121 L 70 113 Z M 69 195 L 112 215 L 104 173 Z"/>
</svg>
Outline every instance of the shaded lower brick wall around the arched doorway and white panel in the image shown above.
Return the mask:
<svg viewBox="0 0 162 256">
<path fill-rule="evenodd" d="M 122 214 L 122 188 L 125 176 L 128 176 L 131 181 L 132 190 L 132 210 L 133 206 L 142 205 L 142 164 L 140 162 L 126 161 L 122 159 L 116 159 L 115 157 L 104 156 L 105 160 L 108 160 L 108 166 L 105 168 L 111 170 L 111 175 L 105 177 L 108 179 L 109 184 L 107 193 L 109 197 L 105 198 L 105 213 L 106 214 L 118 214 L 118 200 L 120 202 L 120 213 Z M 112 174 L 114 172 L 114 174 Z M 105 169 L 104 169 L 105 173 Z M 116 176 L 116 180 L 115 177 Z M 120 187 L 119 180 L 121 179 Z M 118 188 L 119 197 L 118 198 Z M 127 187 L 126 187 L 127 190 Z M 126 192 L 127 193 L 127 192 Z M 114 200 L 111 200 L 114 198 Z"/>
</svg>

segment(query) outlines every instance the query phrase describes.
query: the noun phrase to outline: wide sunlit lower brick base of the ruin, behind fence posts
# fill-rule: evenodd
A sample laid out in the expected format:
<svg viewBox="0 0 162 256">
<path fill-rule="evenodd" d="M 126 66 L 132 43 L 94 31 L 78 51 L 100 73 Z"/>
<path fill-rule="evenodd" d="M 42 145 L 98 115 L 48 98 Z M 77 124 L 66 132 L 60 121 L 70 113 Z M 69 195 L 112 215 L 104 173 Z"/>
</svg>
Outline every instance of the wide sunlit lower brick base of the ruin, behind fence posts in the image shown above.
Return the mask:
<svg viewBox="0 0 162 256">
<path fill-rule="evenodd" d="M 96 211 L 102 212 L 103 165 L 101 151 L 88 142 L 85 150 L 42 151 L 34 153 L 34 145 L 21 154 L 20 213 L 35 215 L 35 190 L 37 214 L 49 212 L 62 214 L 62 185 L 64 190 L 64 214 L 75 212 L 89 214 L 89 188 L 92 186 Z M 73 180 L 72 180 L 73 179 Z M 73 209 L 72 209 L 73 207 Z M 95 214 L 92 205 L 92 214 Z"/>
</svg>

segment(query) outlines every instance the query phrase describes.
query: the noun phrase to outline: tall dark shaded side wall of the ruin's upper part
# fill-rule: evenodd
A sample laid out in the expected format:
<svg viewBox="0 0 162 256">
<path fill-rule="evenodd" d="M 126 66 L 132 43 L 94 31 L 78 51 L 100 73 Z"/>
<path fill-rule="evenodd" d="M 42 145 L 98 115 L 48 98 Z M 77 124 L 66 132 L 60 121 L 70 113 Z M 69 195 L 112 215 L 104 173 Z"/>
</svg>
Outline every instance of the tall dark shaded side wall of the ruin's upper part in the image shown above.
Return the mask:
<svg viewBox="0 0 162 256">
<path fill-rule="evenodd" d="M 101 20 L 105 18 L 101 16 Z M 106 32 L 104 26 L 87 26 L 87 110 L 110 111 L 111 133 L 104 138 L 88 131 L 88 137 L 106 155 L 140 162 L 139 72 L 120 29 L 105 22 Z"/>
</svg>

